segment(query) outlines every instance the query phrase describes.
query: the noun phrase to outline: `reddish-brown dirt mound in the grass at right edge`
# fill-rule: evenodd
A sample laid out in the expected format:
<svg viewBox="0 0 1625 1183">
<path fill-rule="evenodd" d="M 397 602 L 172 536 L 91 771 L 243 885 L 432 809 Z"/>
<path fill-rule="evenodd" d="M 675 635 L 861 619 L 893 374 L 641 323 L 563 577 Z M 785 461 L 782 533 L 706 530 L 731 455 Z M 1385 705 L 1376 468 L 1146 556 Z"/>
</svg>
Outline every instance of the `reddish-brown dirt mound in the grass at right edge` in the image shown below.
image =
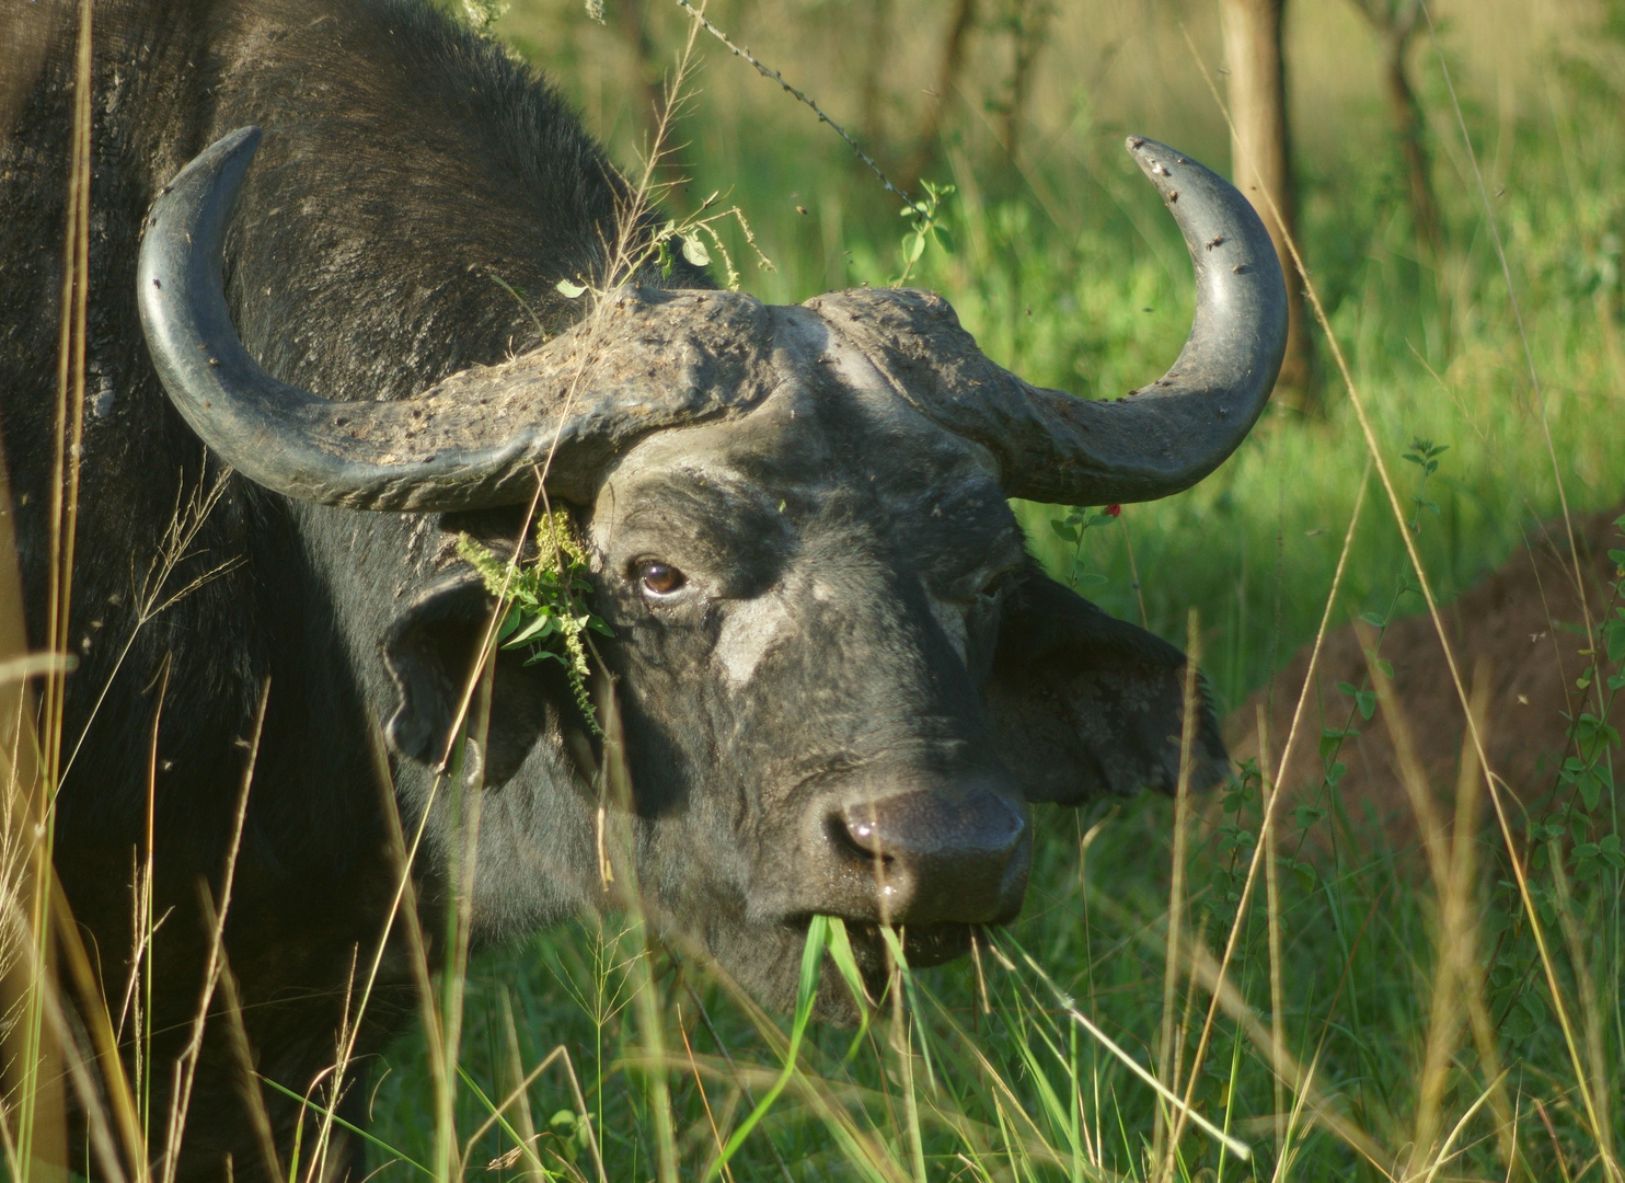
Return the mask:
<svg viewBox="0 0 1625 1183">
<path fill-rule="evenodd" d="M 1614 525 L 1620 512 L 1575 520 L 1580 582 L 1592 624 L 1609 611 L 1610 585 L 1618 577 L 1607 552 L 1609 548 L 1625 546 Z M 1584 673 L 1589 656 L 1583 653 L 1588 647 L 1586 613 L 1575 566 L 1563 523 L 1547 523 L 1532 531 L 1500 570 L 1441 613 L 1462 679 L 1469 686 L 1476 676 L 1488 682 L 1484 741 L 1490 767 L 1524 803 L 1537 801 L 1552 788 L 1563 757 L 1571 754 L 1568 718 L 1584 708 L 1575 679 Z M 1370 630 L 1367 635 L 1372 635 Z M 1310 650 L 1311 645 L 1300 648 L 1276 676 L 1274 708 L 1269 712 L 1272 759 L 1279 759 L 1292 726 Z M 1433 621 L 1427 614 L 1394 621 L 1380 652 L 1393 663 L 1394 694 L 1409 723 L 1417 760 L 1441 814 L 1448 816 L 1461 765 L 1466 712 Z M 1370 686 L 1355 626 L 1326 635 L 1315 681 L 1292 764 L 1279 777 L 1294 798 L 1302 798 L 1305 791 L 1313 795 L 1321 782 L 1323 730 L 1347 726 L 1355 708 L 1354 699 L 1337 684 Z M 1237 759 L 1258 754 L 1258 705 L 1266 702 L 1266 696 L 1268 689 L 1253 694 L 1225 726 Z M 1609 722 L 1620 726 L 1622 717 L 1625 702 L 1617 702 Z M 1355 712 L 1354 726 L 1358 734 L 1346 739 L 1336 757 L 1349 769 L 1341 782 L 1346 808 L 1355 817 L 1370 812 L 1394 837 L 1414 834 L 1383 710 L 1378 708 L 1370 720 Z"/>
</svg>

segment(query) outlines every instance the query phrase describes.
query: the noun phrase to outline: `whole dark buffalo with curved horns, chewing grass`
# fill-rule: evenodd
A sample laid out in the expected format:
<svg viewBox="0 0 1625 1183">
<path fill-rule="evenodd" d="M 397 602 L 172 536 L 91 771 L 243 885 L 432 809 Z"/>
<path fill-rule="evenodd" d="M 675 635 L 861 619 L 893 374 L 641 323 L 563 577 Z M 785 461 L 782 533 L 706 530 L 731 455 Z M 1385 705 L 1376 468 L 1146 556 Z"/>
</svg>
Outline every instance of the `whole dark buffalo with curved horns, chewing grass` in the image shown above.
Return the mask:
<svg viewBox="0 0 1625 1183">
<path fill-rule="evenodd" d="M 0 65 L 0 431 L 42 648 L 78 5 L 26 8 L 5 20 L 32 52 Z M 1160 497 L 1246 436 L 1284 288 L 1224 180 L 1129 141 L 1190 244 L 1196 323 L 1164 379 L 1095 403 L 999 369 L 928 292 L 769 307 L 681 258 L 611 275 L 648 224 L 603 150 L 426 5 L 94 21 L 55 856 L 119 999 L 151 808 L 154 1095 L 250 757 L 226 951 L 262 1076 L 302 1090 L 333 1060 L 395 890 L 380 764 L 408 830 L 429 812 L 422 907 L 445 899 L 450 795 L 429 801 L 492 611 L 457 540 L 512 552 L 541 473 L 613 632 L 648 907 L 769 1003 L 811 915 L 871 959 L 882 921 L 918 964 L 952 957 L 1020 907 L 1029 803 L 1172 783 L 1183 656 L 1048 580 L 1006 499 Z M 577 278 L 618 283 L 556 291 Z M 479 751 L 478 942 L 604 899 L 601 744 L 564 670 L 523 656 L 496 660 Z M 1204 705 L 1196 780 L 1224 759 Z M 393 931 L 361 1053 L 414 1008 Z M 182 1173 L 229 1154 L 240 1176 L 262 1159 L 208 1032 Z M 265 1103 L 289 1139 L 296 1108 Z"/>
</svg>

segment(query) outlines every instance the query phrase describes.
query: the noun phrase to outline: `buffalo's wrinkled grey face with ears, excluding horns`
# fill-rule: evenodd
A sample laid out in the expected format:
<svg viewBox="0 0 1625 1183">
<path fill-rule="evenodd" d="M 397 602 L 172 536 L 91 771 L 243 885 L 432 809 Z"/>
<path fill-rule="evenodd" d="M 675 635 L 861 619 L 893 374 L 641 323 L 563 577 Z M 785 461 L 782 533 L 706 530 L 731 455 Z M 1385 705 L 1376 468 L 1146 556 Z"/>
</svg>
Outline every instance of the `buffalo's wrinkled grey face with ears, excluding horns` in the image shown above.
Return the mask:
<svg viewBox="0 0 1625 1183">
<path fill-rule="evenodd" d="M 952 957 L 968 925 L 1020 908 L 1029 801 L 1172 786 L 1183 661 L 1035 570 L 985 448 L 899 400 L 814 310 L 765 314 L 762 356 L 741 346 L 741 364 L 774 393 L 743 418 L 645 437 L 577 520 L 614 630 L 601 652 L 652 907 L 788 1006 L 811 913 L 868 933 L 871 968 L 882 920 L 907 925 L 916 964 Z M 681 585 L 652 592 L 652 562 Z M 398 749 L 447 751 L 465 679 L 422 671 L 436 653 L 466 661 L 484 619 L 483 588 L 455 577 L 408 614 L 387 647 Z M 486 809 L 510 780 L 578 783 L 549 798 L 574 812 L 559 843 L 481 819 L 476 916 L 518 930 L 549 918 L 523 908 L 536 881 L 574 884 L 583 905 L 600 889 L 570 848 L 595 800 L 562 754 L 582 749 L 582 723 L 556 689 L 514 713 L 522 696 L 497 682 Z M 1207 782 L 1222 746 L 1206 712 L 1198 756 Z"/>
</svg>

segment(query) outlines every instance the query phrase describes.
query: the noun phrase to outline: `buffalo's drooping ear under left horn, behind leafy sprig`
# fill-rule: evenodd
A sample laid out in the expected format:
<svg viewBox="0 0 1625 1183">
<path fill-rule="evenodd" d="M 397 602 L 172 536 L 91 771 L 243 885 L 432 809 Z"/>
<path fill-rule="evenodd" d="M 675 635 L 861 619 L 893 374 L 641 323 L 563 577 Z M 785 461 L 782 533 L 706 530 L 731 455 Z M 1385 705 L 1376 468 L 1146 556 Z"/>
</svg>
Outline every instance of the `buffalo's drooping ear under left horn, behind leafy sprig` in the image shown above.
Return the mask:
<svg viewBox="0 0 1625 1183">
<path fill-rule="evenodd" d="M 445 757 L 491 608 L 483 582 L 463 574 L 431 585 L 395 618 L 384 639 L 384 666 L 395 684 L 384 738 L 398 756 L 424 764 Z M 483 752 L 486 786 L 510 780 L 540 739 L 561 733 L 561 722 L 582 726 L 562 666 L 526 666 L 523 653 L 499 650 Z"/>
</svg>

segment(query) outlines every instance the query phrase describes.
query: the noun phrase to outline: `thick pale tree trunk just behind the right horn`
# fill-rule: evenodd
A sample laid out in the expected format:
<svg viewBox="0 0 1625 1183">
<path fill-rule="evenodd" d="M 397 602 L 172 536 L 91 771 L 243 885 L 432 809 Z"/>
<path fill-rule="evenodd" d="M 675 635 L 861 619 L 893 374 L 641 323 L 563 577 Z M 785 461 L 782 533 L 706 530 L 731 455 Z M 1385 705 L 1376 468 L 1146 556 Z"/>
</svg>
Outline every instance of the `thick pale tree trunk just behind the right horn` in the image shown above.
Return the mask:
<svg viewBox="0 0 1625 1183">
<path fill-rule="evenodd" d="M 1230 141 L 1235 185 L 1258 210 L 1287 278 L 1287 356 L 1280 362 L 1276 400 L 1315 410 L 1315 343 L 1308 335 L 1303 280 L 1287 250 L 1298 245 L 1292 151 L 1287 136 L 1287 75 L 1280 50 L 1285 0 L 1220 0 L 1225 65 L 1230 70 Z M 1271 208 L 1274 206 L 1274 208 Z"/>
</svg>

